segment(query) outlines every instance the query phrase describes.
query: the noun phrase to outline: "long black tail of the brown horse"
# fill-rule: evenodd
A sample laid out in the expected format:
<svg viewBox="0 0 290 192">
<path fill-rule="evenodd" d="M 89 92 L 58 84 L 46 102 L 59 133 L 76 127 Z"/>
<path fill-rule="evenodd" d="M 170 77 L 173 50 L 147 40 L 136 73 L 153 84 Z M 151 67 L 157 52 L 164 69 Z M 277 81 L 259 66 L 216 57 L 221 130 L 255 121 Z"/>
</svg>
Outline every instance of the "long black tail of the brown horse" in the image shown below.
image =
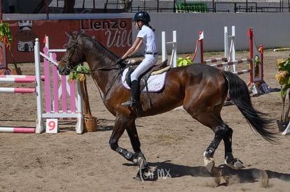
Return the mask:
<svg viewBox="0 0 290 192">
<path fill-rule="evenodd" d="M 258 112 L 253 108 L 247 84 L 233 73 L 224 71 L 223 74 L 228 80 L 230 99 L 242 112 L 242 115 L 244 115 L 251 127 L 265 140 L 275 142 L 277 140 L 275 133 L 270 131 L 273 129 L 273 126 L 271 126 L 273 121 L 265 117 L 267 114 Z"/>
</svg>

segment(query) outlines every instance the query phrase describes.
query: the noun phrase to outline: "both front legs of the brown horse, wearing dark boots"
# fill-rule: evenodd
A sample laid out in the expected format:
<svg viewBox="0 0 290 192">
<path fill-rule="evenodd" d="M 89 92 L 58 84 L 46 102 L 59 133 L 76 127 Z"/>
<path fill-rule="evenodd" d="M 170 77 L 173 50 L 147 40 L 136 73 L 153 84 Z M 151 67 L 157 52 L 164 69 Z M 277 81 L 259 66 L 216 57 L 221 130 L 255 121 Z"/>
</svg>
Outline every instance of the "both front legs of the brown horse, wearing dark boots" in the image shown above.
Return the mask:
<svg viewBox="0 0 290 192">
<path fill-rule="evenodd" d="M 129 135 L 134 154 L 127 149 L 118 146 L 118 140 L 120 139 L 120 136 L 123 135 L 125 129 Z M 137 134 L 135 119 L 116 117 L 109 144 L 111 149 L 118 152 L 118 154 L 127 159 L 127 161 L 132 161 L 134 165 L 140 165 L 140 163 L 147 165 L 146 159 L 140 149 L 140 141 Z"/>
</svg>

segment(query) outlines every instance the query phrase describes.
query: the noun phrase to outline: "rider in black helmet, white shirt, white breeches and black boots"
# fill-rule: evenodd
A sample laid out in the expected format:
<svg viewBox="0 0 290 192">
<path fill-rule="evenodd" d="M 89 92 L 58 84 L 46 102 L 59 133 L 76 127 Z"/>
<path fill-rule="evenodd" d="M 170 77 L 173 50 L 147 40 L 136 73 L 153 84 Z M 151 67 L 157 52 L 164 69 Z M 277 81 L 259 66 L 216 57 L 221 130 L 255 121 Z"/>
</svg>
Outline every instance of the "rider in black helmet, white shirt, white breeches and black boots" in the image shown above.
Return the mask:
<svg viewBox="0 0 290 192">
<path fill-rule="evenodd" d="M 131 74 L 131 82 L 132 82 L 132 92 L 130 99 L 122 103 L 123 106 L 130 106 L 133 108 L 137 108 L 139 106 L 139 77 L 142 73 L 147 71 L 151 66 L 155 65 L 158 60 L 158 45 L 156 42 L 156 36 L 154 34 L 155 29 L 153 29 L 150 25 L 150 15 L 146 11 L 137 12 L 132 21 L 135 23 L 136 29 L 139 29 L 137 34 L 137 38 L 134 41 L 132 47 L 125 52 L 123 57 L 118 59 L 117 63 L 121 64 L 125 60 L 125 58 L 132 56 L 141 45 L 146 45 L 144 52 L 144 59 L 141 61 L 139 66 L 134 70 Z"/>
</svg>

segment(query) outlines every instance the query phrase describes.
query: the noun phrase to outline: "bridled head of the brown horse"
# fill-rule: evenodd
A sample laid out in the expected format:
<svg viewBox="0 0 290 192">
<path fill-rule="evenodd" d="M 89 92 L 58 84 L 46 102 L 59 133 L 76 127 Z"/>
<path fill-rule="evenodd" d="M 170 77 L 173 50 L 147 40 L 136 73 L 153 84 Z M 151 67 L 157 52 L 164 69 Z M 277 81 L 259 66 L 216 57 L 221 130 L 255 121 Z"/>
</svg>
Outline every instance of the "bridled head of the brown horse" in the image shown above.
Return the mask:
<svg viewBox="0 0 290 192">
<path fill-rule="evenodd" d="M 57 69 L 61 75 L 69 75 L 74 66 L 83 63 L 83 52 L 79 49 L 79 39 L 81 34 L 74 34 L 69 31 L 71 40 L 67 45 L 67 50 L 64 52 L 62 59 L 57 66 Z"/>
</svg>

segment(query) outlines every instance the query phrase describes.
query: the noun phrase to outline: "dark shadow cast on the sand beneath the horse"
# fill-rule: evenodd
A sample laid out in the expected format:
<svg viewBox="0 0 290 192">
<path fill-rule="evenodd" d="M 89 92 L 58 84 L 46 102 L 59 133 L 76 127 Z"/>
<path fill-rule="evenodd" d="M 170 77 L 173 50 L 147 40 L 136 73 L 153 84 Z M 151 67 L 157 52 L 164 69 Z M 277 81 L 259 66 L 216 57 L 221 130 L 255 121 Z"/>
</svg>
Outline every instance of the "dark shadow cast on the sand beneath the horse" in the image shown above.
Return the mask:
<svg viewBox="0 0 290 192">
<path fill-rule="evenodd" d="M 132 164 L 124 163 L 124 165 L 131 166 Z M 260 170 L 256 168 L 233 170 L 226 165 L 219 165 L 219 167 L 215 167 L 212 173 L 209 173 L 204 166 L 191 167 L 186 165 L 177 165 L 174 163 L 170 163 L 170 161 L 149 163 L 149 167 L 151 168 L 150 172 L 154 172 L 155 175 L 155 179 L 148 179 L 150 181 L 156 180 L 158 179 L 158 177 L 174 178 L 184 176 L 213 177 L 216 178 L 215 180 L 218 186 L 228 185 L 230 182 L 261 182 L 263 186 L 267 186 L 268 179 L 272 178 L 281 179 L 286 182 L 290 181 L 290 174 L 288 173 L 275 172 L 272 170 Z"/>
</svg>

